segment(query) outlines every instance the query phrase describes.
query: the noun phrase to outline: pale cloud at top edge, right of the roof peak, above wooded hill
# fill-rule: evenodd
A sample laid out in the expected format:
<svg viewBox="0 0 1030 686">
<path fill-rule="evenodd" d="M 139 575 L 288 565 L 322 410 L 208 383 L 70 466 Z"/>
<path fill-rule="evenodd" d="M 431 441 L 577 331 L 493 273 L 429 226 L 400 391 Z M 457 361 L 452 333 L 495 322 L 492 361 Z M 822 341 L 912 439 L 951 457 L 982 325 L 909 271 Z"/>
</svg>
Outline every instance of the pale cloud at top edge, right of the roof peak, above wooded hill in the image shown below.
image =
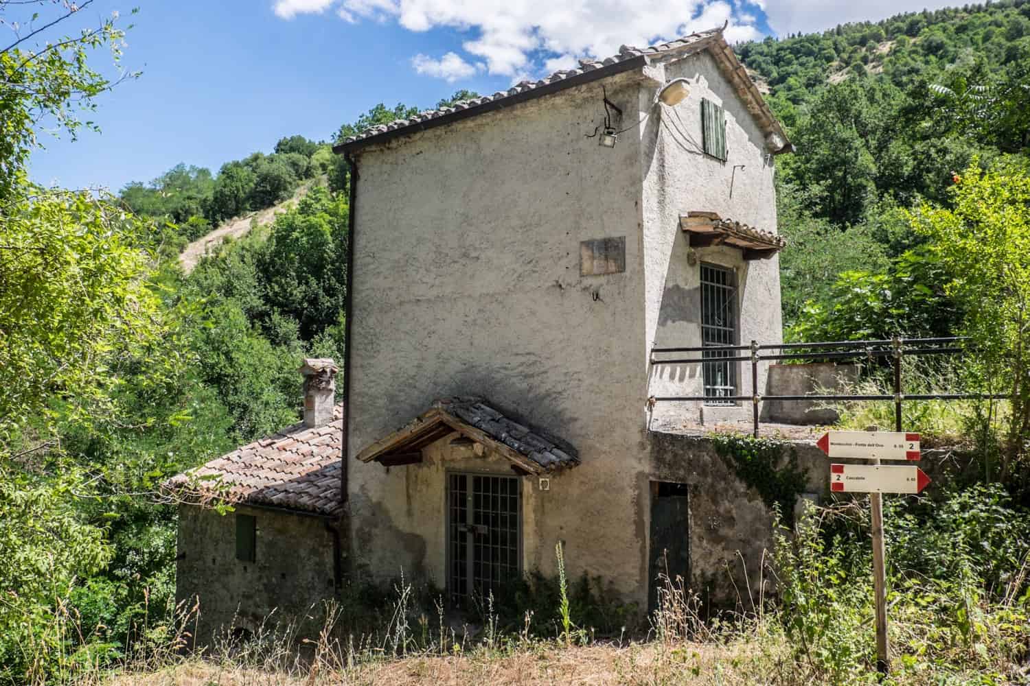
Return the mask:
<svg viewBox="0 0 1030 686">
<path fill-rule="evenodd" d="M 956 0 L 760 0 L 769 27 L 778 35 L 825 31 L 849 22 L 879 22 L 901 12 L 940 9 Z"/>
</svg>

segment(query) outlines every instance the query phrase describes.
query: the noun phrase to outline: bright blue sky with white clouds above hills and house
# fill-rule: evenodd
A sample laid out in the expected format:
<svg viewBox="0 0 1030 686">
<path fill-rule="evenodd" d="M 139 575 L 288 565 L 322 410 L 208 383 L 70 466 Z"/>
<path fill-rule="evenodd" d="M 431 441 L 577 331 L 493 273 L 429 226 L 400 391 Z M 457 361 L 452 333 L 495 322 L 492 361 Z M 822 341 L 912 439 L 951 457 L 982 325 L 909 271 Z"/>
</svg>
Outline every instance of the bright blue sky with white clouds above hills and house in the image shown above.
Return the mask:
<svg viewBox="0 0 1030 686">
<path fill-rule="evenodd" d="M 138 0 L 137 0 L 138 2 Z M 117 190 L 178 163 L 208 167 L 282 136 L 330 139 L 376 103 L 431 107 L 458 88 L 493 93 L 619 44 L 729 22 L 730 40 L 883 19 L 927 0 L 94 0 L 74 19 L 134 24 L 124 65 L 139 79 L 98 99 L 102 133 L 42 136 L 34 180 Z M 7 17 L 8 20 L 13 17 Z M 71 29 L 67 25 L 67 29 Z M 0 31 L 5 30 L 0 27 Z M 50 36 L 53 38 L 53 36 Z M 103 52 L 94 65 L 110 63 Z"/>
</svg>

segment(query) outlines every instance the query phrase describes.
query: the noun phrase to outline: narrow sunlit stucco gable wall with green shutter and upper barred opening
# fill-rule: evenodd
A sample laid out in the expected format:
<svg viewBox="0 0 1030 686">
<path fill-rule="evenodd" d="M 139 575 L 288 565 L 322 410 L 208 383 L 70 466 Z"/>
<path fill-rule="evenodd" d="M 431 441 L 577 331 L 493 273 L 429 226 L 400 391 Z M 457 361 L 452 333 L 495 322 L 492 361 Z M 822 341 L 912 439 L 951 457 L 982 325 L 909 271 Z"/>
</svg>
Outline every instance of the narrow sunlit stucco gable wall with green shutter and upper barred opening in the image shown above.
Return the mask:
<svg viewBox="0 0 1030 686">
<path fill-rule="evenodd" d="M 646 338 L 657 347 L 701 345 L 700 262 L 712 262 L 735 273 L 739 345 L 779 342 L 783 335 L 779 259 L 745 261 L 740 250 L 720 246 L 696 248 L 691 259 L 687 237 L 679 224 L 680 216 L 688 212 L 716 212 L 723 218 L 777 232 L 774 158 L 767 156 L 764 136 L 708 52 L 652 69 L 658 82 L 688 79 L 690 95 L 675 107 L 657 105 L 640 133 Z M 642 107 L 653 98 L 653 87 L 642 89 Z M 725 110 L 725 163 L 703 154 L 701 99 Z M 740 165 L 744 169 L 734 171 Z M 751 395 L 750 373 L 750 365 L 737 363 L 737 395 Z M 650 395 L 699 396 L 701 386 L 699 364 L 651 369 Z M 763 388 L 765 370 L 761 366 L 759 392 Z M 659 403 L 654 408 L 655 425 L 675 425 L 683 417 L 697 421 L 700 406 L 696 402 Z M 750 413 L 750 403 L 745 402 L 736 408 L 706 407 L 703 419 L 708 422 Z"/>
</svg>

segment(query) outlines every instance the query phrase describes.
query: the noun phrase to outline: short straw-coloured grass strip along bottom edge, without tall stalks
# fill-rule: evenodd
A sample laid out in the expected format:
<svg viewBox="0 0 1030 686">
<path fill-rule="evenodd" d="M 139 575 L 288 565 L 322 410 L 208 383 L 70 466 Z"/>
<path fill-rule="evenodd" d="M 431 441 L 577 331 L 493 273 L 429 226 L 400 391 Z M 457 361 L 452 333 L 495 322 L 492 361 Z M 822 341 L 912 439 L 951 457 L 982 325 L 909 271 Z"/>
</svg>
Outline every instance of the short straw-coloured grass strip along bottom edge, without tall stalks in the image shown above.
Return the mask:
<svg viewBox="0 0 1030 686">
<path fill-rule="evenodd" d="M 754 684 L 769 681 L 768 657 L 758 646 L 733 643 L 658 643 L 565 648 L 539 644 L 508 654 L 415 656 L 372 661 L 342 671 L 265 672 L 232 663 L 190 659 L 158 672 L 125 672 L 105 686 L 368 686 L 517 684 Z"/>
</svg>

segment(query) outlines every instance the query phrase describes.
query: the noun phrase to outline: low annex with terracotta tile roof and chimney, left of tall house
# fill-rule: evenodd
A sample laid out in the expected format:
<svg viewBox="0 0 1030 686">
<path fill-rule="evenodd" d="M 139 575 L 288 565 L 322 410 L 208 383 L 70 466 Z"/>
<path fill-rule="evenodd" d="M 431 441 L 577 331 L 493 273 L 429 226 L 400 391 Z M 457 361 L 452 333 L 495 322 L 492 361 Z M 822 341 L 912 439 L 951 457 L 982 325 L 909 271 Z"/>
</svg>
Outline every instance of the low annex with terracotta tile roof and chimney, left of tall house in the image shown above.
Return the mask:
<svg viewBox="0 0 1030 686">
<path fill-rule="evenodd" d="M 337 367 L 333 360 L 308 359 L 301 372 L 303 422 L 165 484 L 182 499 L 175 595 L 191 606 L 200 599 L 198 645 L 253 634 L 267 622 L 316 634 L 322 601 L 342 585 Z"/>
</svg>

